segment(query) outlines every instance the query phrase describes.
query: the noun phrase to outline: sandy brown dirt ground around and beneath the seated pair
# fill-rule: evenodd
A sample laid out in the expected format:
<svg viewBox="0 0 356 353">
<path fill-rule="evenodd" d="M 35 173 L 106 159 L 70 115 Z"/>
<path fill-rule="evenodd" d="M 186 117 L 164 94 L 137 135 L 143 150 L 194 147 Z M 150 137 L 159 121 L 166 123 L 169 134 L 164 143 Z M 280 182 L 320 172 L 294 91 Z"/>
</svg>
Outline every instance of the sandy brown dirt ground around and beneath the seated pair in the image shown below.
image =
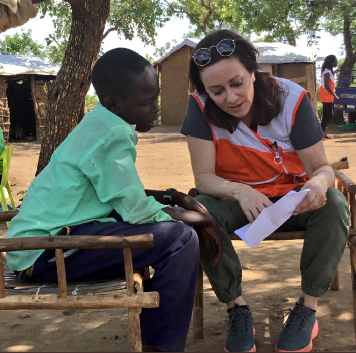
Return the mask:
<svg viewBox="0 0 356 353">
<path fill-rule="evenodd" d="M 332 126 L 328 132 L 335 133 L 333 140 L 325 141 L 329 160 L 348 156 L 346 174 L 356 180 L 356 131 Z M 39 148 L 32 142 L 14 143 L 10 174 L 17 178 L 16 200 L 16 193 L 27 189 L 34 177 Z M 194 185 L 185 137 L 178 127 L 159 126 L 140 134 L 137 150 L 137 169 L 146 188 L 188 191 Z M 0 236 L 5 236 L 4 228 Z M 248 268 L 243 271 L 243 290 L 254 315 L 257 351 L 273 352 L 282 327 L 277 313 L 293 307 L 300 294 L 302 241 L 262 242 L 253 250 L 239 241 L 234 246 Z M 348 249 L 340 266 L 340 291 L 329 291 L 319 302 L 315 352 L 356 352 Z M 191 325 L 186 352 L 221 352 L 224 347 L 226 311 L 206 277 L 204 306 L 205 338 L 194 339 Z M 27 318 L 21 318 L 24 313 Z M 127 352 L 127 332 L 126 310 L 0 312 L 1 352 Z"/>
</svg>

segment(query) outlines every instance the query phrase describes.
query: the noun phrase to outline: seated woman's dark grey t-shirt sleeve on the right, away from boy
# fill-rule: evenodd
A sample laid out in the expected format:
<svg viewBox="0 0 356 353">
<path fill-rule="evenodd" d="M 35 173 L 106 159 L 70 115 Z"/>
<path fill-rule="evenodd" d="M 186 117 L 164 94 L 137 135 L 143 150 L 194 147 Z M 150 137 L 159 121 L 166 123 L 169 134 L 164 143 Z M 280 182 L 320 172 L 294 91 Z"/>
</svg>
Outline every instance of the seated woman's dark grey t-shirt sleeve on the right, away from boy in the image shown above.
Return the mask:
<svg viewBox="0 0 356 353">
<path fill-rule="evenodd" d="M 314 108 L 305 94 L 295 114 L 295 122 L 290 132 L 290 142 L 296 151 L 315 145 L 324 137 Z"/>
</svg>

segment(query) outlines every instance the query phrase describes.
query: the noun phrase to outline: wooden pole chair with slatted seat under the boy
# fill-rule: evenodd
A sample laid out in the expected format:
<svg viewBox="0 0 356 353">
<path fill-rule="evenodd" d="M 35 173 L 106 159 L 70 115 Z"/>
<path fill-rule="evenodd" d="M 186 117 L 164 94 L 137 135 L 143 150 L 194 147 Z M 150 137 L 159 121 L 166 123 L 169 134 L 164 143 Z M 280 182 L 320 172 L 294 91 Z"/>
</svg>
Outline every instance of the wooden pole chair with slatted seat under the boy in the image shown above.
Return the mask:
<svg viewBox="0 0 356 353">
<path fill-rule="evenodd" d="M 0 222 L 10 221 L 17 213 L 0 212 Z M 140 290 L 147 273 L 134 273 L 131 249 L 152 246 L 152 234 L 130 237 L 87 235 L 0 239 L 0 310 L 128 308 L 130 351 L 142 352 L 138 308 L 157 308 L 159 295 L 157 292 L 143 293 Z M 98 248 L 123 248 L 126 281 L 118 279 L 67 285 L 63 249 Z M 55 249 L 58 284 L 24 283 L 4 266 L 1 252 L 34 249 Z M 125 288 L 126 293 L 121 292 Z"/>
</svg>

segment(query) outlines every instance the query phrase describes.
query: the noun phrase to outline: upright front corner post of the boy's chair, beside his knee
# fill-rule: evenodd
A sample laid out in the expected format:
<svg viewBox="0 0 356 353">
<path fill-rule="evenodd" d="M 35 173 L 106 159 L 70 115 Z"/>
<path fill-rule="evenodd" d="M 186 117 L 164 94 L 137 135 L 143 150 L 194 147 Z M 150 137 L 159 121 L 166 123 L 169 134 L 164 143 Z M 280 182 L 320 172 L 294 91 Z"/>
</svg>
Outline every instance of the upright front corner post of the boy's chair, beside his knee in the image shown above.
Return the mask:
<svg viewBox="0 0 356 353">
<path fill-rule="evenodd" d="M 124 266 L 125 266 L 125 278 L 127 295 L 132 297 L 135 293 L 135 283 L 133 278 L 133 266 L 132 266 L 132 252 L 131 249 L 124 248 Z M 130 351 L 142 352 L 142 338 L 140 317 L 137 308 L 128 309 L 128 321 L 129 321 L 129 337 L 130 337 Z"/>
</svg>

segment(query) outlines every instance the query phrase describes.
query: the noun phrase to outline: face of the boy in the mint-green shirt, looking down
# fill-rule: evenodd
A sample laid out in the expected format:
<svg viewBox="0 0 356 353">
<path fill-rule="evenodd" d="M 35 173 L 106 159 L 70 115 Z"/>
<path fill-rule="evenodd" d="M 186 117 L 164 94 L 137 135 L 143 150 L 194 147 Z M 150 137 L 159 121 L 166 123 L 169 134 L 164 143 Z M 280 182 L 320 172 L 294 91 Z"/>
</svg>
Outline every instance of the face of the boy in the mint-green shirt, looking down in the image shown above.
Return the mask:
<svg viewBox="0 0 356 353">
<path fill-rule="evenodd" d="M 147 132 L 158 123 L 158 95 L 160 87 L 158 76 L 152 66 L 133 79 L 127 98 L 116 98 L 117 111 L 130 125 L 136 125 L 136 131 Z"/>
</svg>

